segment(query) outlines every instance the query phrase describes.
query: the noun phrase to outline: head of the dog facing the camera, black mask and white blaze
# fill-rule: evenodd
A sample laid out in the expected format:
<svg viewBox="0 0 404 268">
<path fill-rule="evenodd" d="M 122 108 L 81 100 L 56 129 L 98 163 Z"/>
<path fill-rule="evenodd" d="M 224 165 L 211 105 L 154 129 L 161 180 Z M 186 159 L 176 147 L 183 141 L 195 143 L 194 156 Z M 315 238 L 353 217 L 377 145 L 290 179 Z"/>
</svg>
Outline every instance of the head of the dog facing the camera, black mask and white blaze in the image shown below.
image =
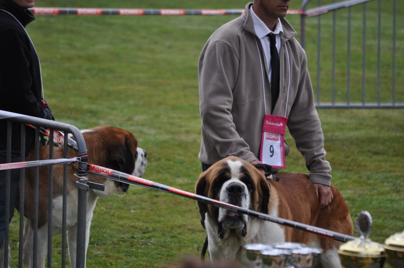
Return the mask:
<svg viewBox="0 0 404 268">
<path fill-rule="evenodd" d="M 201 174 L 196 194 L 246 209 L 268 213 L 270 186 L 264 175 L 241 158 L 230 156 L 220 160 Z M 205 213 L 214 220 L 217 235 L 226 239 L 231 233 L 244 237 L 251 219 L 244 214 L 198 202 L 202 221 Z"/>
</svg>

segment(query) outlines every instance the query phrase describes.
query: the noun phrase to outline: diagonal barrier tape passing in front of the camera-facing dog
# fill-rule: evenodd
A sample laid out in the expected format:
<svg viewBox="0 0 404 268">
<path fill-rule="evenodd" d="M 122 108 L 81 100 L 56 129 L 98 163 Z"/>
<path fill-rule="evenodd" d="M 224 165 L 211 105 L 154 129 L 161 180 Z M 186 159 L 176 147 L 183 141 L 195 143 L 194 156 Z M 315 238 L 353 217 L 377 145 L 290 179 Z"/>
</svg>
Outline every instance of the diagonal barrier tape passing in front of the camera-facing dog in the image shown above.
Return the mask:
<svg viewBox="0 0 404 268">
<path fill-rule="evenodd" d="M 341 241 L 341 242 L 347 242 L 349 240 L 353 240 L 356 239 L 353 236 L 349 236 L 349 235 L 344 235 L 341 233 L 337 233 L 334 231 L 330 231 L 330 230 L 326 230 L 326 229 L 322 229 L 322 228 L 318 228 L 315 226 L 310 226 L 310 225 L 306 225 L 306 224 L 301 224 L 298 222 L 294 222 L 294 221 L 289 221 L 289 220 L 285 220 L 282 218 L 278 218 L 278 217 L 274 217 L 274 216 L 270 216 L 264 213 L 260 213 L 254 210 L 250 210 L 250 209 L 246 209 L 246 208 L 242 208 L 236 205 L 232 205 L 229 203 L 224 203 L 224 202 L 220 202 L 218 200 L 215 199 L 211 199 L 202 195 L 197 195 L 194 193 L 190 193 L 187 191 L 183 191 L 183 190 L 179 190 L 173 187 L 169 187 L 160 183 L 156 183 L 156 182 L 152 182 L 146 179 L 142 179 L 133 175 L 128 175 L 122 172 L 118 172 L 115 170 L 111 170 L 111 169 L 107 169 L 104 167 L 100 167 L 100 166 L 96 166 L 96 165 L 88 165 L 88 172 L 97 174 L 101 177 L 105 177 L 108 179 L 112 179 L 115 181 L 119 181 L 119 182 L 123 182 L 123 183 L 127 183 L 127 184 L 131 184 L 131 185 L 136 185 L 136 186 L 141 186 L 144 188 L 149 188 L 149 189 L 154 189 L 154 190 L 159 190 L 159 191 L 163 191 L 163 192 L 167 192 L 167 193 L 172 193 L 172 194 L 176 194 L 179 196 L 183 196 L 183 197 L 187 197 L 190 199 L 194 199 L 200 202 L 204 202 L 207 204 L 211 204 L 217 207 L 221 207 L 221 208 L 225 208 L 225 209 L 230 209 L 232 211 L 237 211 L 243 214 L 246 214 L 248 216 L 252 216 L 255 218 L 259 218 L 261 220 L 264 221 L 270 221 L 270 222 L 274 222 L 277 224 L 281 224 L 281 225 L 285 225 L 287 227 L 292 227 L 295 228 L 297 230 L 300 231 L 305 231 L 305 232 L 309 232 L 312 234 L 316 234 L 319 236 L 323 236 L 326 238 L 331 238 L 337 241 Z"/>
</svg>

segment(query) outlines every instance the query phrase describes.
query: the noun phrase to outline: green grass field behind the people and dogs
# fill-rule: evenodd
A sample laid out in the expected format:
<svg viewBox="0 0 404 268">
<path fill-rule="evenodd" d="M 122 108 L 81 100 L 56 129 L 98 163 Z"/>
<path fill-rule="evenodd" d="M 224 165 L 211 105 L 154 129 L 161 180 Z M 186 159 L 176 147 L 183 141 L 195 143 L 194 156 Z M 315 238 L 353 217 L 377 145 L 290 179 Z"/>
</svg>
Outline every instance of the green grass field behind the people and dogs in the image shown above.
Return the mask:
<svg viewBox="0 0 404 268">
<path fill-rule="evenodd" d="M 244 9 L 245 5 L 240 0 L 41 0 L 36 7 Z M 290 5 L 299 9 L 300 1 Z M 404 16 L 403 4 L 398 5 L 396 97 L 403 102 Z M 369 9 L 373 12 L 372 6 Z M 384 11 L 383 18 L 390 12 Z M 236 17 L 36 16 L 27 31 L 38 51 L 45 96 L 57 121 L 80 129 L 112 125 L 131 131 L 148 151 L 144 178 L 193 192 L 201 173 L 198 57 L 208 37 Z M 299 32 L 299 17 L 287 18 Z M 310 32 L 315 22 L 308 24 L 307 56 L 316 86 L 312 40 L 317 31 Z M 322 49 L 329 51 L 332 37 L 328 32 L 322 36 L 326 38 Z M 362 37 L 355 42 L 361 43 Z M 353 62 L 362 61 L 361 53 L 351 57 Z M 372 50 L 368 57 L 369 62 L 374 60 Z M 324 61 L 331 65 L 329 59 Z M 338 81 L 346 80 L 345 61 L 337 59 Z M 367 72 L 368 86 L 374 90 L 374 65 Z M 383 77 L 388 80 L 391 72 Z M 324 71 L 321 87 L 327 91 L 330 83 Z M 385 89 L 391 83 L 383 80 L 383 85 Z M 403 231 L 404 111 L 319 110 L 319 115 L 332 182 L 342 192 L 351 217 L 368 210 L 374 221 L 371 239 L 377 242 Z M 285 171 L 307 172 L 293 139 L 288 134 L 286 139 L 292 149 Z M 131 186 L 124 197 L 99 199 L 87 267 L 161 267 L 185 255 L 198 256 L 205 236 L 196 201 Z M 11 240 L 14 266 L 16 237 Z M 61 242 L 54 240 L 53 266 L 60 266 Z"/>
</svg>

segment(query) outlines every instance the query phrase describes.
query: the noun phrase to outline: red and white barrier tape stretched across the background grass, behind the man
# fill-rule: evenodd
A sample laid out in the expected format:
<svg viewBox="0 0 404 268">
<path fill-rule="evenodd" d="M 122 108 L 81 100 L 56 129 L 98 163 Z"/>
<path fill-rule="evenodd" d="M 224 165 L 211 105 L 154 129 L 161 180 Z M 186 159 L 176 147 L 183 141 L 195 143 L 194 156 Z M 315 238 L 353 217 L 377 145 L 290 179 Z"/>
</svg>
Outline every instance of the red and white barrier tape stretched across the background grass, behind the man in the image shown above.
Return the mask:
<svg viewBox="0 0 404 268">
<path fill-rule="evenodd" d="M 35 15 L 241 15 L 244 9 L 92 9 L 92 8 L 32 8 Z M 288 10 L 287 14 L 303 14 L 302 10 Z"/>
</svg>

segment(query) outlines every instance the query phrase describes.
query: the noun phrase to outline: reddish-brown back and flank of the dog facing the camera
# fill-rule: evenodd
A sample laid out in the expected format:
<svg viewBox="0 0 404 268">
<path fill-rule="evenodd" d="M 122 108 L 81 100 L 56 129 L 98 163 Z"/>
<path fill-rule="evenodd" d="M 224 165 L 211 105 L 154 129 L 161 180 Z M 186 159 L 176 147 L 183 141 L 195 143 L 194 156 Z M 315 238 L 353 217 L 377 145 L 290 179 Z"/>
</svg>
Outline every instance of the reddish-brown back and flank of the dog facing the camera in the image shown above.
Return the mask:
<svg viewBox="0 0 404 268">
<path fill-rule="evenodd" d="M 342 194 L 334 185 L 331 185 L 334 196 L 332 202 L 330 205 L 320 208 L 316 189 L 306 174 L 279 173 L 277 175 L 280 177 L 280 181 L 270 182 L 271 195 L 274 193 L 274 189 L 276 189 L 280 200 L 279 209 L 290 210 L 285 212 L 287 216 L 283 218 L 341 234 L 353 235 L 349 208 Z M 292 196 L 293 201 L 289 201 L 289 203 L 296 205 L 283 206 L 282 203 L 288 202 L 285 200 L 285 196 Z M 325 252 L 324 254 L 328 252 L 328 255 L 331 255 L 331 252 L 333 252 L 333 258 L 337 255 L 336 251 L 341 245 L 341 242 L 336 240 L 291 228 L 285 228 L 285 234 L 286 241 L 321 247 Z"/>
</svg>

